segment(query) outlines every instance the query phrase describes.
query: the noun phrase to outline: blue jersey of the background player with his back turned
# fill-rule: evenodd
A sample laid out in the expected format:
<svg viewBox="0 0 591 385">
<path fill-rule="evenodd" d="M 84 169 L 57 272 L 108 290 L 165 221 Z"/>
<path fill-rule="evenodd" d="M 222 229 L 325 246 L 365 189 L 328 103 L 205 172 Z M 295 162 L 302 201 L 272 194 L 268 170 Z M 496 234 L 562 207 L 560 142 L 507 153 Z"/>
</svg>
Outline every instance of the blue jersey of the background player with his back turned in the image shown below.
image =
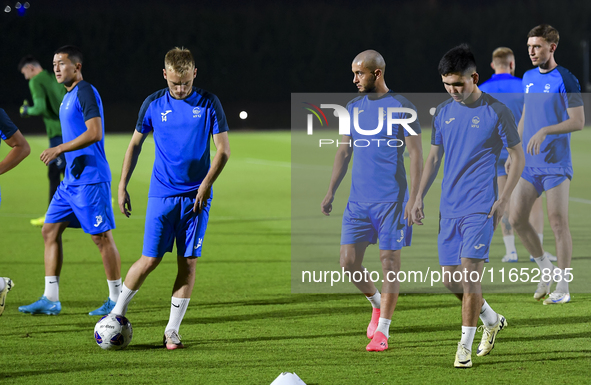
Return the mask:
<svg viewBox="0 0 591 385">
<path fill-rule="evenodd" d="M 523 113 L 523 88 L 521 79 L 511 74 L 494 74 L 486 82 L 478 86 L 481 91 L 491 94 L 491 96 L 503 103 L 513 113 L 515 125 L 519 124 L 521 114 Z M 509 153 L 503 147 L 501 149 L 501 159 L 507 159 Z"/>
</svg>

